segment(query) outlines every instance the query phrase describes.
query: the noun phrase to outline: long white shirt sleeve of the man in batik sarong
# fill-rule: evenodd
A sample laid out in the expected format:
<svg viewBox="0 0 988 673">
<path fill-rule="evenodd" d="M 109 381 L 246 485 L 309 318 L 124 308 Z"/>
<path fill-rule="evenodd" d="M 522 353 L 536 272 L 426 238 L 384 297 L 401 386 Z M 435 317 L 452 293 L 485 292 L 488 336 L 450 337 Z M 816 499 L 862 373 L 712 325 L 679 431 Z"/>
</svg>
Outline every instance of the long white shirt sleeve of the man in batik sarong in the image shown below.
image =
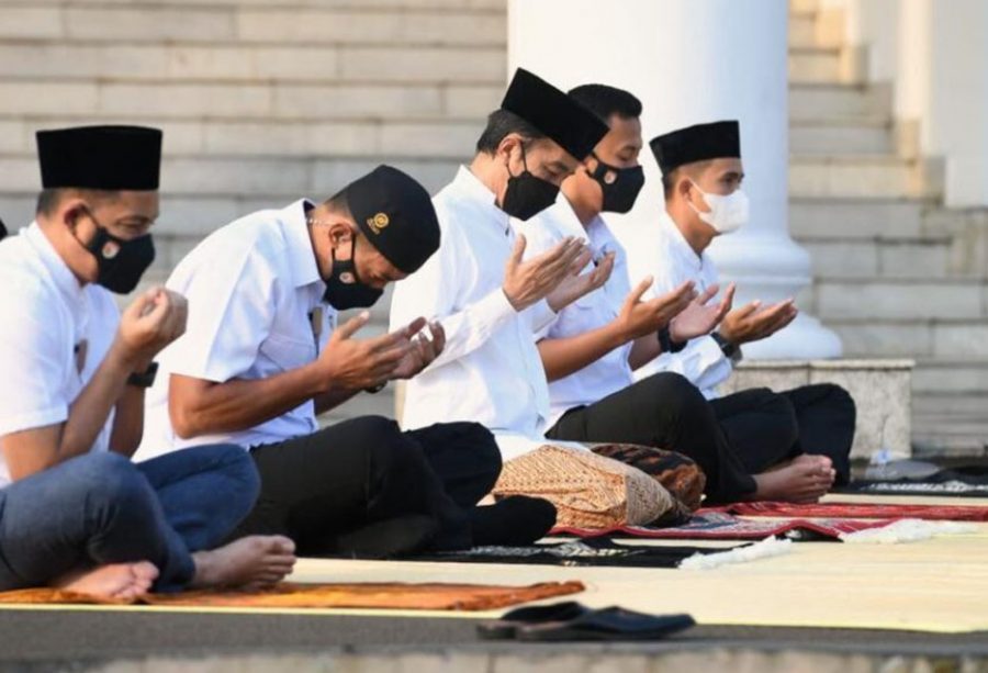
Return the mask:
<svg viewBox="0 0 988 673">
<path fill-rule="evenodd" d="M 469 256 L 470 250 L 461 250 L 465 246 L 447 232 L 444 236 L 439 250 L 418 271 L 395 284 L 391 300 L 392 330 L 419 316 L 441 323 L 446 348 L 427 369 L 470 355 L 516 315 L 501 287 L 472 304 L 457 305 L 457 291 L 461 283 L 468 282 L 457 258 Z"/>
</svg>

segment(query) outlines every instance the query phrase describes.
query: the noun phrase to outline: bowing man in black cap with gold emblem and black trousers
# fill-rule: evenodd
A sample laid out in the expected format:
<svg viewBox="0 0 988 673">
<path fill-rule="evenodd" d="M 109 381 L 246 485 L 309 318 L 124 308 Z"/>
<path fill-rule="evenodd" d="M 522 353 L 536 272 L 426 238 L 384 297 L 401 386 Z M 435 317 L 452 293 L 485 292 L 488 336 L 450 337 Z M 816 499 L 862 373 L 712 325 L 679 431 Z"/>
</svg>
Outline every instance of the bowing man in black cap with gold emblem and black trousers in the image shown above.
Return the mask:
<svg viewBox="0 0 988 673">
<path fill-rule="evenodd" d="M 501 460 L 475 423 L 402 433 L 366 416 L 319 429 L 316 415 L 407 379 L 442 351 L 419 317 L 357 339 L 386 283 L 439 246 L 436 213 L 411 177 L 380 166 L 316 204 L 296 201 L 233 222 L 195 247 L 168 288 L 190 302 L 186 335 L 161 356 L 141 456 L 215 441 L 249 450 L 261 476 L 238 534 L 282 534 L 306 556 L 392 557 L 424 548 L 530 542 L 549 503 L 476 507 Z"/>
</svg>

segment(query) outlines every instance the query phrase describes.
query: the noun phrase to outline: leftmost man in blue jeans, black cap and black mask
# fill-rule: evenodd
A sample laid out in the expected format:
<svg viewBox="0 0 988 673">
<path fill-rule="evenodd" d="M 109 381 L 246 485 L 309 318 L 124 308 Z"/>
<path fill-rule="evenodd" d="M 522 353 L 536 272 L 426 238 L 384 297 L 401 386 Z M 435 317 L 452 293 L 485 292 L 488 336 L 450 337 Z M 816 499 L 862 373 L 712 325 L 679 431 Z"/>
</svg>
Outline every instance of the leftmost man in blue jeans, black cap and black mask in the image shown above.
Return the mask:
<svg viewBox="0 0 988 673">
<path fill-rule="evenodd" d="M 161 132 L 43 131 L 37 145 L 36 221 L 0 244 L 0 591 L 128 601 L 281 580 L 289 539 L 213 549 L 257 497 L 237 447 L 130 460 L 151 359 L 186 323 L 173 292 L 123 315 L 108 292 L 131 292 L 154 259 Z"/>
</svg>

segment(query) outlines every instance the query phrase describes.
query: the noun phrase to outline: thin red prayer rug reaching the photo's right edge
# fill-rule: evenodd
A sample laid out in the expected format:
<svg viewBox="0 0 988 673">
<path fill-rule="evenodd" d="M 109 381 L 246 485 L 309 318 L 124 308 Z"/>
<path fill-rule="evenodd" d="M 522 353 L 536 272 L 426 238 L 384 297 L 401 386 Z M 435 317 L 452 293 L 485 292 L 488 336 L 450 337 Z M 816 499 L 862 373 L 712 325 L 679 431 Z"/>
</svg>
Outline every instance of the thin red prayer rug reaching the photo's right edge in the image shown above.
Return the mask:
<svg viewBox="0 0 988 673">
<path fill-rule="evenodd" d="M 947 521 L 988 521 L 988 507 L 964 505 L 892 505 L 872 503 L 734 503 L 725 507 L 701 509 L 700 514 L 725 512 L 740 516 L 841 517 L 871 519 L 933 519 Z"/>
</svg>

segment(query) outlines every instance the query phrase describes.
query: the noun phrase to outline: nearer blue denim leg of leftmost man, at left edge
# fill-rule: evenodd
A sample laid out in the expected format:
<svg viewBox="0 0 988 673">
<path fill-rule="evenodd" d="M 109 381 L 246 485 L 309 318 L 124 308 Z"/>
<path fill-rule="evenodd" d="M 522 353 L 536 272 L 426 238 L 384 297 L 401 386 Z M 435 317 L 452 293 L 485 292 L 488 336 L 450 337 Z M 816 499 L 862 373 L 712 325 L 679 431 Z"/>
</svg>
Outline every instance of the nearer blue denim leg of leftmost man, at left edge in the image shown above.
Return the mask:
<svg viewBox="0 0 988 673">
<path fill-rule="evenodd" d="M 155 492 L 126 458 L 89 453 L 0 491 L 0 588 L 136 561 L 158 568 L 156 591 L 181 588 L 194 572 Z"/>
</svg>

